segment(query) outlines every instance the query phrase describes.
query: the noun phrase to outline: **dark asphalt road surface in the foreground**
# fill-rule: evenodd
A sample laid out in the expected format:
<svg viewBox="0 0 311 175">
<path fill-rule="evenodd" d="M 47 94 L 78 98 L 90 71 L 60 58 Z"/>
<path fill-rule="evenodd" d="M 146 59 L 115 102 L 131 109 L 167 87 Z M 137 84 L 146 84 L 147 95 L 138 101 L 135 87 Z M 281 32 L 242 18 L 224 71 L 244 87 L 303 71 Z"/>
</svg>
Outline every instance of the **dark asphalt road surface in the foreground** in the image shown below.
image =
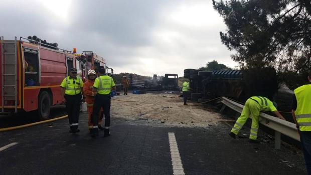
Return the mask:
<svg viewBox="0 0 311 175">
<path fill-rule="evenodd" d="M 88 133 L 87 113 L 80 114 L 77 134 L 68 132 L 68 119 L 0 132 L 0 147 L 17 143 L 0 151 L 0 174 L 173 174 L 169 132 L 175 133 L 185 174 L 306 174 L 299 151 L 287 144 L 276 150 L 273 140 L 234 140 L 228 136 L 233 123 L 203 128 L 111 122 L 111 136 L 100 132 L 95 139 Z"/>
</svg>

